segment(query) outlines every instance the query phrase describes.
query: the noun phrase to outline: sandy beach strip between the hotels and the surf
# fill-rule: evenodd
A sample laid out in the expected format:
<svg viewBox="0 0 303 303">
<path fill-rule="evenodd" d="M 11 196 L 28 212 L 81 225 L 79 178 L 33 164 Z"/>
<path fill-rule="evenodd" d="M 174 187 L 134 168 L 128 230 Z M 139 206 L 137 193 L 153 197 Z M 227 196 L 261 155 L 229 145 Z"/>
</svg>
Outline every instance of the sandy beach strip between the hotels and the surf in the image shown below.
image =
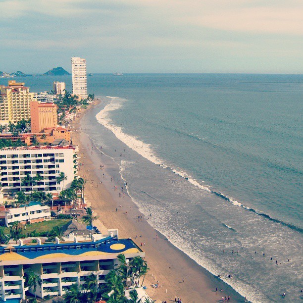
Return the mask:
<svg viewBox="0 0 303 303">
<path fill-rule="evenodd" d="M 81 119 L 93 106 L 80 112 L 72 123 L 73 144 L 79 145 L 79 162 L 83 163 L 78 174 L 87 180 L 85 199 L 99 215 L 100 221 L 95 225 L 101 224 L 102 232 L 107 228 L 117 228 L 120 238 L 132 238 L 139 246 L 143 245 L 150 268 L 144 281 L 148 294 L 159 302 L 174 302 L 175 296 L 184 303 L 220 302 L 222 297 L 227 296 L 230 296 L 230 302 L 244 302 L 244 298 L 229 285 L 210 274 L 154 230 L 126 193 L 125 197 L 120 197 L 120 191 L 114 190 L 114 186 L 124 186 L 118 165 L 110 157 L 102 155 L 89 134 L 81 130 Z M 101 169 L 100 165 L 105 168 Z M 142 215 L 142 219 L 138 219 L 138 215 Z M 156 281 L 161 285 L 158 289 L 152 288 Z"/>
</svg>

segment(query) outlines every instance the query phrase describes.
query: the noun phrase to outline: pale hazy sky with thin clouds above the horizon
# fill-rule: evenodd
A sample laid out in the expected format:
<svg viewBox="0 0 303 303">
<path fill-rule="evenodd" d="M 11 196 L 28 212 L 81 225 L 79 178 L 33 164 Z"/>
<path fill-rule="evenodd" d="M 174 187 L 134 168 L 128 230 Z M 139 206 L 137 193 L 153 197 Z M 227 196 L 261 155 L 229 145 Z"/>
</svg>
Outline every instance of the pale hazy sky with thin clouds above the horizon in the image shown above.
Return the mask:
<svg viewBox="0 0 303 303">
<path fill-rule="evenodd" d="M 303 0 L 0 0 L 0 70 L 303 73 Z"/>
</svg>

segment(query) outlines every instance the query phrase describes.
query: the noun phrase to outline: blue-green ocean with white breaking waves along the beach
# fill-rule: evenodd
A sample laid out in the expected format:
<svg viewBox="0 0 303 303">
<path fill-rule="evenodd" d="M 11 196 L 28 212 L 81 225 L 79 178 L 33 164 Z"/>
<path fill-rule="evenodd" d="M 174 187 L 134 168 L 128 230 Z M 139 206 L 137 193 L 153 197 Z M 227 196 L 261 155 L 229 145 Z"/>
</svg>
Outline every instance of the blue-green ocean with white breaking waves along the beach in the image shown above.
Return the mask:
<svg viewBox="0 0 303 303">
<path fill-rule="evenodd" d="M 70 76 L 15 80 L 71 90 Z M 96 74 L 88 88 L 107 97 L 82 129 L 150 224 L 250 301 L 301 301 L 303 76 Z"/>
</svg>

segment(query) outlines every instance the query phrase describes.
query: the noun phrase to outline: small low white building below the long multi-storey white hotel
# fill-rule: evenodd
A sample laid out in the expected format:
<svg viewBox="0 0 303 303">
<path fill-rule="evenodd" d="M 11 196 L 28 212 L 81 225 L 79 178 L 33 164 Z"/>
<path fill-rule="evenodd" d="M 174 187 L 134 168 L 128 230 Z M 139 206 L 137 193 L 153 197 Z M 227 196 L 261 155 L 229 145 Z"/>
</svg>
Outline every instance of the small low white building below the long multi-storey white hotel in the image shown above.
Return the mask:
<svg viewBox="0 0 303 303">
<path fill-rule="evenodd" d="M 9 226 L 13 222 L 41 222 L 50 219 L 50 206 L 31 205 L 27 207 L 10 208 L 5 212 L 5 225 Z"/>
</svg>

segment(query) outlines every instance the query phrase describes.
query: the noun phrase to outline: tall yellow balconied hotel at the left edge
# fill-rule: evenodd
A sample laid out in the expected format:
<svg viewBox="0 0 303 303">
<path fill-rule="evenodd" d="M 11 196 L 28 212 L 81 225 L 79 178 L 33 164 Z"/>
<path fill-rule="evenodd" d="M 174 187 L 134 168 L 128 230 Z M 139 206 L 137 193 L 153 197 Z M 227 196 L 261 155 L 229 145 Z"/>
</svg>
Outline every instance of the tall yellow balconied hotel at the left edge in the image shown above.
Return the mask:
<svg viewBox="0 0 303 303">
<path fill-rule="evenodd" d="M 0 120 L 18 121 L 30 119 L 30 101 L 34 94 L 23 82 L 8 81 L 8 86 L 0 85 Z"/>
</svg>

